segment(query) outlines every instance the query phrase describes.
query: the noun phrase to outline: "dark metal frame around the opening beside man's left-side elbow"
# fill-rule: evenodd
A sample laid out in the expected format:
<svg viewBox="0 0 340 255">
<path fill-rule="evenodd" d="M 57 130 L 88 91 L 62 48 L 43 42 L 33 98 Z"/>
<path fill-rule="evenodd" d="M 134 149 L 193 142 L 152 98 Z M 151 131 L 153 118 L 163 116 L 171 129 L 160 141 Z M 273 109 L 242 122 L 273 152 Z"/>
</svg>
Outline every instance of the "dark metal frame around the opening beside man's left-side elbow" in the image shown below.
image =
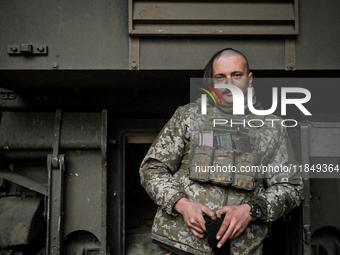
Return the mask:
<svg viewBox="0 0 340 255">
<path fill-rule="evenodd" d="M 167 120 L 112 119 L 108 141 L 108 244 L 111 254 L 125 254 L 125 153 L 128 142 L 151 142 Z M 135 140 L 137 138 L 138 141 Z M 142 139 L 139 139 L 142 138 Z M 138 171 L 138 169 L 135 169 Z M 138 211 L 139 212 L 139 211 Z"/>
</svg>

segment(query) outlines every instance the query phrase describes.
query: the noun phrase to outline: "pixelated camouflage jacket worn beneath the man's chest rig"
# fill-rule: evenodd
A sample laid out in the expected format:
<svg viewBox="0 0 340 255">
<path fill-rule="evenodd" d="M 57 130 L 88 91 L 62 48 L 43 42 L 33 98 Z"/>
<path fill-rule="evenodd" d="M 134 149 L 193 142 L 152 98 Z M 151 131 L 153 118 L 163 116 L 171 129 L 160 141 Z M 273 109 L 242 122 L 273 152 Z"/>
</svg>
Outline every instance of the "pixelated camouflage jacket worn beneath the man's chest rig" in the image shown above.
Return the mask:
<svg viewBox="0 0 340 255">
<path fill-rule="evenodd" d="M 214 114 L 228 117 L 213 107 Z M 243 116 L 248 118 L 249 115 Z M 229 115 L 229 118 L 233 118 Z M 271 115 L 268 119 L 279 119 Z M 268 173 L 265 188 L 257 185 L 252 191 L 200 183 L 189 179 L 188 169 L 179 169 L 186 145 L 197 139 L 205 116 L 197 104 L 179 107 L 150 147 L 141 168 L 141 183 L 158 205 L 152 228 L 152 238 L 181 250 L 203 255 L 213 254 L 207 238 L 194 236 L 184 223 L 182 215 L 174 210 L 175 203 L 186 197 L 208 206 L 213 211 L 225 205 L 239 205 L 250 199 L 265 201 L 265 217 L 261 222 L 250 223 L 236 239 L 230 240 L 231 254 L 262 254 L 262 240 L 267 226 L 299 206 L 303 198 L 303 182 L 298 173 Z M 266 121 L 260 131 L 260 153 L 266 163 L 282 166 L 294 163 L 294 153 L 287 131 L 281 121 Z M 262 203 L 263 207 L 263 203 Z"/>
</svg>

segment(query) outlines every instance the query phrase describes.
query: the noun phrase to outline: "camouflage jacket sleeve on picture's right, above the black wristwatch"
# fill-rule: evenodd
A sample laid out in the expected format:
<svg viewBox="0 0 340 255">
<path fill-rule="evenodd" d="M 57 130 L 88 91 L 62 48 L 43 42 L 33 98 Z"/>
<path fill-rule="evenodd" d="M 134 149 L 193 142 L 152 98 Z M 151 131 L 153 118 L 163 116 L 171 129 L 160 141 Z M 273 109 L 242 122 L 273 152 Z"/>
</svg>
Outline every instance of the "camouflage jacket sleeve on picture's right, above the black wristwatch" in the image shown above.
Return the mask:
<svg viewBox="0 0 340 255">
<path fill-rule="evenodd" d="M 303 180 L 286 128 L 277 126 L 263 137 L 267 150 L 266 189 L 254 196 L 264 210 L 262 221 L 273 221 L 298 207 L 303 200 Z"/>
</svg>

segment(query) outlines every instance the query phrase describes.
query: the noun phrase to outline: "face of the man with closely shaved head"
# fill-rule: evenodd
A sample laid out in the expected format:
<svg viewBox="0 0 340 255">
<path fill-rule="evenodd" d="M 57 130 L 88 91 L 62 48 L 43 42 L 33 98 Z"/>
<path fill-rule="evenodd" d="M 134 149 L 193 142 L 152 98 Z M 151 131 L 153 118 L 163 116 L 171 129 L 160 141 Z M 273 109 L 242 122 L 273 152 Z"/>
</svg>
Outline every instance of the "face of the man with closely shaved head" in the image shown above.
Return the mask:
<svg viewBox="0 0 340 255">
<path fill-rule="evenodd" d="M 253 74 L 248 74 L 245 59 L 241 55 L 220 57 L 213 63 L 214 84 L 232 84 L 239 87 L 243 95 L 247 95 L 248 87 L 251 87 Z M 216 88 L 217 93 L 227 103 L 233 102 L 233 94 L 229 89 Z"/>
</svg>

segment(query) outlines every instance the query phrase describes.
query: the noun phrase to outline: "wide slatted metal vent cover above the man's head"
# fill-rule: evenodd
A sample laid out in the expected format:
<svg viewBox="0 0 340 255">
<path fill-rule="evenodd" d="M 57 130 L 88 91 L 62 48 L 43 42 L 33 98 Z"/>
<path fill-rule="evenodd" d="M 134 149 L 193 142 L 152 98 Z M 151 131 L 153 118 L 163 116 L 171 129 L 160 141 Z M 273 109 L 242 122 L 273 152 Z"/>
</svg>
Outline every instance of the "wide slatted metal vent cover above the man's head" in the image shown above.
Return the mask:
<svg viewBox="0 0 340 255">
<path fill-rule="evenodd" d="M 129 4 L 130 36 L 298 34 L 297 0 L 130 0 Z"/>
</svg>

